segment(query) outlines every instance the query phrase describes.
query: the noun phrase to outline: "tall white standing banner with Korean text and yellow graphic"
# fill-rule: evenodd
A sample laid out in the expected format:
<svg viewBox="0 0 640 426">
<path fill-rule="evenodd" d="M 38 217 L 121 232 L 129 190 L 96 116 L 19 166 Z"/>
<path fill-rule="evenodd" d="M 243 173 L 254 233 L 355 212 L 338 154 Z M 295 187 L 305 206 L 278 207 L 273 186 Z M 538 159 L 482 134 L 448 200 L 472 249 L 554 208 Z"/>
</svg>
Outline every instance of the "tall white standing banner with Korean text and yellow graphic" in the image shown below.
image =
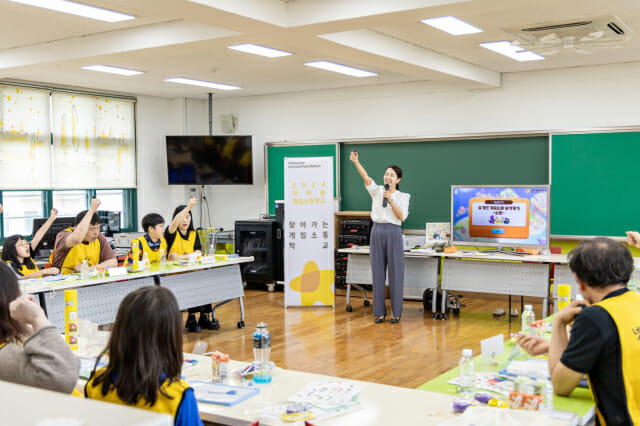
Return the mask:
<svg viewBox="0 0 640 426">
<path fill-rule="evenodd" d="M 284 306 L 335 306 L 333 158 L 285 158 L 284 185 Z"/>
</svg>

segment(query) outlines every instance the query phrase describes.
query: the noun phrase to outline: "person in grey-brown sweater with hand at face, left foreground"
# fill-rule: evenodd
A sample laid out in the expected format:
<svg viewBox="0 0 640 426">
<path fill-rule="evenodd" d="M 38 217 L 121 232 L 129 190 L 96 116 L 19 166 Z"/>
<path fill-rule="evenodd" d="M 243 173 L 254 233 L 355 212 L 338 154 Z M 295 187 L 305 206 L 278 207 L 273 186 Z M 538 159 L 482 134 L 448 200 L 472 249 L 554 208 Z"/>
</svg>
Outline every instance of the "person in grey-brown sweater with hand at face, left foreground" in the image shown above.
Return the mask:
<svg viewBox="0 0 640 426">
<path fill-rule="evenodd" d="M 69 394 L 79 369 L 58 329 L 32 295 L 20 295 L 15 273 L 0 262 L 0 380 Z"/>
</svg>

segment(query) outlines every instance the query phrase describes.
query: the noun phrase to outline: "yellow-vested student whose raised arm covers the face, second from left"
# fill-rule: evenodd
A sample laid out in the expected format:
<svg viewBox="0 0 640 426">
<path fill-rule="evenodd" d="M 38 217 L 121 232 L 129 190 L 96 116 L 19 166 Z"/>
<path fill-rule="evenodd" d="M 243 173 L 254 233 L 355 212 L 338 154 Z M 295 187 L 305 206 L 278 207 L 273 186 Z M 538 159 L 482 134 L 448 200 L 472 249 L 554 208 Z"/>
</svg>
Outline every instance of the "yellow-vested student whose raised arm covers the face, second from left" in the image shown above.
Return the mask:
<svg viewBox="0 0 640 426">
<path fill-rule="evenodd" d="M 60 231 L 51 253 L 50 263 L 60 268 L 62 274 L 80 272 L 82 261 L 86 260 L 89 270 L 96 266 L 112 268 L 118 266 L 118 260 L 107 238 L 100 232 L 98 207 L 100 200 L 91 200 L 89 210 L 76 216 L 75 226 Z"/>
</svg>

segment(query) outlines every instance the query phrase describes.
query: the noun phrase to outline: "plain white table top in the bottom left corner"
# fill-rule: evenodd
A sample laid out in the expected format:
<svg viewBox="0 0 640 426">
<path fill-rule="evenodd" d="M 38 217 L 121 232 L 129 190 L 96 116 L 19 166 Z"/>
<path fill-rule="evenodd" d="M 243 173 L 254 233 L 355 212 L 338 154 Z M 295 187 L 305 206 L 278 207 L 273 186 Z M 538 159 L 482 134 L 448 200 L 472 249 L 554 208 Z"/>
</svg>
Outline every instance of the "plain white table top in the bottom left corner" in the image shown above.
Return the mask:
<svg viewBox="0 0 640 426">
<path fill-rule="evenodd" d="M 82 399 L 31 386 L 0 381 L 2 424 L 172 426 L 173 417 L 124 405 Z M 74 423 L 73 421 L 76 421 Z M 43 423 L 44 424 L 44 423 Z"/>
</svg>

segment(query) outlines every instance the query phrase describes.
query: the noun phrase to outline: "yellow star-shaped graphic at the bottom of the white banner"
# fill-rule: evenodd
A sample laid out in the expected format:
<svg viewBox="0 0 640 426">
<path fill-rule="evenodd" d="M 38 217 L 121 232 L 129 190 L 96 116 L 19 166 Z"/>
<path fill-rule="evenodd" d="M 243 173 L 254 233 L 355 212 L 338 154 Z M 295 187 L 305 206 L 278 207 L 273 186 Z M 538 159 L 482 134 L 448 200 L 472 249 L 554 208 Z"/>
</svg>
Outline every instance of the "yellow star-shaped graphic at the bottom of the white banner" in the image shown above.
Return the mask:
<svg viewBox="0 0 640 426">
<path fill-rule="evenodd" d="M 321 271 L 318 264 L 310 260 L 304 265 L 302 275 L 292 279 L 289 287 L 300 292 L 302 306 L 312 306 L 315 302 L 333 306 L 333 277 L 333 269 Z"/>
</svg>

